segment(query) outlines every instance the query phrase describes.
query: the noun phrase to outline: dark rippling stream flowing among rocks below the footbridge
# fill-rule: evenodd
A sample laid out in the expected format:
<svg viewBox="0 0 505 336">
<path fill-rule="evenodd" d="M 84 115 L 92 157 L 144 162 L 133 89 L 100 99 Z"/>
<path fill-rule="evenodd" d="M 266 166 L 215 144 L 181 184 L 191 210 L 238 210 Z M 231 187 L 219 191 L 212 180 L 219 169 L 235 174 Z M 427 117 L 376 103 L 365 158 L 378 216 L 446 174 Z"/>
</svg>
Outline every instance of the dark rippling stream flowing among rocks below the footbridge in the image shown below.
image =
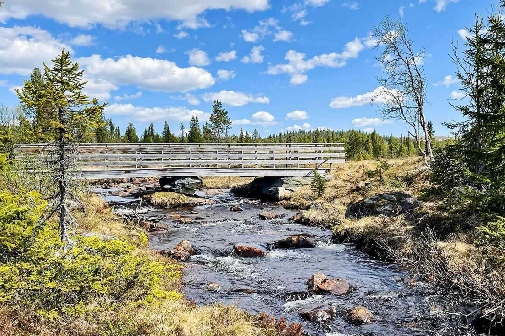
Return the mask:
<svg viewBox="0 0 505 336">
<path fill-rule="evenodd" d="M 135 201 L 132 197 L 112 196 L 110 191 L 95 189 L 106 201 Z M 374 260 L 354 245 L 334 244 L 329 230 L 290 222 L 288 218 L 296 211 L 277 203 L 237 198 L 229 190 L 220 195 L 205 195 L 205 191 L 198 194 L 218 204 L 149 211 L 149 215 L 182 214 L 192 219 L 192 223 L 182 224 L 165 218 L 161 223 L 168 230 L 149 234 L 151 249 L 171 250 L 188 240 L 196 250 L 184 270 L 187 299 L 197 304 L 235 304 L 250 313 L 263 312 L 276 318 L 285 316 L 288 322 L 302 323 L 308 335 L 477 335 L 459 315 L 444 313 L 455 308 L 429 284 L 413 281 L 407 270 Z M 235 204 L 243 211 L 230 211 Z M 262 220 L 258 216 L 262 212 L 275 212 L 278 217 Z M 300 233 L 316 236 L 317 246 L 273 249 L 258 258 L 233 255 L 234 244 L 266 248 Z M 341 297 L 308 294 L 305 282 L 317 271 L 330 278 L 347 279 L 352 291 Z M 313 323 L 300 319 L 298 310 L 320 303 L 334 308 L 333 321 Z M 367 307 L 376 321 L 361 326 L 347 323 L 341 316 L 355 306 Z"/>
</svg>

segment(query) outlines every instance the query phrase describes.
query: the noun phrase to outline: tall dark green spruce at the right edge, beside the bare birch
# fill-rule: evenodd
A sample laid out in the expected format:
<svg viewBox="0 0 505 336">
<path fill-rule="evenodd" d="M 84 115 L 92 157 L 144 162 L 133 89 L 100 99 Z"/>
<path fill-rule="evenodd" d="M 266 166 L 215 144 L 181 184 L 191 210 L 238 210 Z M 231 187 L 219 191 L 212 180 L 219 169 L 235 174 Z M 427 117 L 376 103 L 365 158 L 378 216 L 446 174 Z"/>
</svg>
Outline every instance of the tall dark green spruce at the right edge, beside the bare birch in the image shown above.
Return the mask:
<svg viewBox="0 0 505 336">
<path fill-rule="evenodd" d="M 481 212 L 505 212 L 505 23 L 503 13 L 493 13 L 484 24 L 476 17 L 469 29 L 460 58 L 453 61 L 461 81 L 465 103 L 451 105 L 463 115 L 462 122 L 444 124 L 458 138 L 437 154 L 443 162 L 434 169 L 432 181 L 446 190 L 462 187 L 468 208 Z M 448 166 L 450 164 L 450 166 Z M 448 176 L 448 174 L 452 176 Z M 450 185 L 449 182 L 455 185 Z"/>
</svg>

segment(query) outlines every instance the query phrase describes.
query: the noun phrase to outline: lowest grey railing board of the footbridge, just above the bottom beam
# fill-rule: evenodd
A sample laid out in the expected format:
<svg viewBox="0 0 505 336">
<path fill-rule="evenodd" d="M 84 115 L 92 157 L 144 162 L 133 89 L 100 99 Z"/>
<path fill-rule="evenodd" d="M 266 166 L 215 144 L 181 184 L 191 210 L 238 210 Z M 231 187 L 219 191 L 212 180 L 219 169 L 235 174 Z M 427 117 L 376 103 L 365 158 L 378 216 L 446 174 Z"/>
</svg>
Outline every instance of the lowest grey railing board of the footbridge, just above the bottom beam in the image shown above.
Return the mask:
<svg viewBox="0 0 505 336">
<path fill-rule="evenodd" d="M 214 164 L 260 164 L 260 165 L 269 165 L 269 164 L 319 164 L 324 162 L 323 160 L 315 160 L 315 159 L 284 159 L 284 160 L 171 160 L 171 161 L 142 161 L 142 166 L 148 165 L 183 165 L 183 164 L 192 164 L 192 165 L 214 165 Z M 344 159 L 329 159 L 326 163 L 344 163 Z M 79 164 L 85 167 L 94 167 L 94 166 L 135 166 L 139 165 L 139 161 L 80 161 Z"/>
</svg>

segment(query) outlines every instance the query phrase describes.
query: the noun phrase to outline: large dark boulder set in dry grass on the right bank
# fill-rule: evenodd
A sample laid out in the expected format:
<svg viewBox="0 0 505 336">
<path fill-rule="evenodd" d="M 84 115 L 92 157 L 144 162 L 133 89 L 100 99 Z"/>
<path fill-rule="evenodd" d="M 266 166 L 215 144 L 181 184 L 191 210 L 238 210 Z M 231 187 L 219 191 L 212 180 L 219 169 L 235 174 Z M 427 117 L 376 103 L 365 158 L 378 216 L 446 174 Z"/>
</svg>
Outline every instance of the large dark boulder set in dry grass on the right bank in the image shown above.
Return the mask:
<svg viewBox="0 0 505 336">
<path fill-rule="evenodd" d="M 411 212 L 419 206 L 419 202 L 409 194 L 392 192 L 377 194 L 362 199 L 347 207 L 346 218 L 362 218 L 366 216 L 394 217 Z"/>
</svg>

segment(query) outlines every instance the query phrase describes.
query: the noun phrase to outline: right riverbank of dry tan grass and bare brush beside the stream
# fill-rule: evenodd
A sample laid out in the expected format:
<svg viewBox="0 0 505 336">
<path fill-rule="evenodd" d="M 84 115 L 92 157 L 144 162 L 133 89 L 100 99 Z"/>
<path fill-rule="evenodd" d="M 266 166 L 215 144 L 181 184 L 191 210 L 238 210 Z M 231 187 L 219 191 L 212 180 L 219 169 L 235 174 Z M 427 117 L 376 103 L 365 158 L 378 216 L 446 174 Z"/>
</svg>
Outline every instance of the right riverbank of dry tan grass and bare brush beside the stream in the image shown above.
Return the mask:
<svg viewBox="0 0 505 336">
<path fill-rule="evenodd" d="M 479 218 L 444 210 L 420 158 L 389 160 L 382 169 L 374 161 L 346 162 L 330 174 L 335 178 L 322 197 L 304 187 L 281 203 L 298 209 L 300 222 L 331 228 L 336 241 L 405 265 L 412 275 L 451 293 L 461 304 L 456 314 L 463 320 L 501 332 L 505 281 L 495 256 L 475 243 Z M 346 217 L 349 205 L 394 193 L 412 195 L 419 206 L 392 217 Z"/>
</svg>

